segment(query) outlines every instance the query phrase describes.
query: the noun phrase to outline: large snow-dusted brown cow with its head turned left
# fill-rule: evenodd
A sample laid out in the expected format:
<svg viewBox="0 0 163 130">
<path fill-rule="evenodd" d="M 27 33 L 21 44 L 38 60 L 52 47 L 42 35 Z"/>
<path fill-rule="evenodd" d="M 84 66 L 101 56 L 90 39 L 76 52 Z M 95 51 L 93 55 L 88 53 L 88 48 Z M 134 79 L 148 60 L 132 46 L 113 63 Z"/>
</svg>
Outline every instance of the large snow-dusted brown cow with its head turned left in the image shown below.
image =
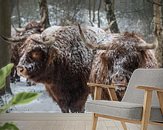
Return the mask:
<svg viewBox="0 0 163 130">
<path fill-rule="evenodd" d="M 49 30 L 49 29 L 48 29 Z M 45 84 L 47 91 L 62 112 L 84 112 L 89 94 L 89 79 L 93 53 L 80 39 L 76 26 L 45 30 L 28 37 L 21 47 L 17 71 L 21 76 Z M 106 33 L 85 28 L 92 42 Z"/>
</svg>

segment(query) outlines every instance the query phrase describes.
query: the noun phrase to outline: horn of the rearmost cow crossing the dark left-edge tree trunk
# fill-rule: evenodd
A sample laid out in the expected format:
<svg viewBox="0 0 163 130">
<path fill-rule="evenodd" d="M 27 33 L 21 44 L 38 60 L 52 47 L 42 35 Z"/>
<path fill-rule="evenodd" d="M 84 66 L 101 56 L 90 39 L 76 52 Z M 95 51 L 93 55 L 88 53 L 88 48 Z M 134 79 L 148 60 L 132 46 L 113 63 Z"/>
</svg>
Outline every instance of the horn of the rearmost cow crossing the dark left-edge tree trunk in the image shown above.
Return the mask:
<svg viewBox="0 0 163 130">
<path fill-rule="evenodd" d="M 8 43 L 20 42 L 20 41 L 26 39 L 26 36 L 8 38 L 8 37 L 0 35 L 0 37 L 1 37 L 1 39 L 3 39 L 4 41 L 6 41 Z"/>
</svg>

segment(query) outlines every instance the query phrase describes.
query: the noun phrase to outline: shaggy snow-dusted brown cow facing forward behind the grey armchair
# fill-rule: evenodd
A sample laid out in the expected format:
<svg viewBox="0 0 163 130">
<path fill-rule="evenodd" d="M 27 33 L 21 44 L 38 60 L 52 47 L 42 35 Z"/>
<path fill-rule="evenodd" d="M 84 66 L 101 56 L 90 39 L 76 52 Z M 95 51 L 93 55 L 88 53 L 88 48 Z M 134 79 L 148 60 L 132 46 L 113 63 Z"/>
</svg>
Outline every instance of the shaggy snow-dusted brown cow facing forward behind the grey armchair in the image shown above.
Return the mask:
<svg viewBox="0 0 163 130">
<path fill-rule="evenodd" d="M 147 44 L 134 33 L 110 34 L 109 43 L 96 45 L 85 40 L 82 30 L 81 36 L 87 46 L 98 49 L 89 82 L 114 84 L 119 100 L 135 69 L 157 67 L 153 50 L 150 50 L 156 47 L 157 39 L 153 44 Z M 103 90 L 102 99 L 110 99 L 107 90 Z"/>
</svg>

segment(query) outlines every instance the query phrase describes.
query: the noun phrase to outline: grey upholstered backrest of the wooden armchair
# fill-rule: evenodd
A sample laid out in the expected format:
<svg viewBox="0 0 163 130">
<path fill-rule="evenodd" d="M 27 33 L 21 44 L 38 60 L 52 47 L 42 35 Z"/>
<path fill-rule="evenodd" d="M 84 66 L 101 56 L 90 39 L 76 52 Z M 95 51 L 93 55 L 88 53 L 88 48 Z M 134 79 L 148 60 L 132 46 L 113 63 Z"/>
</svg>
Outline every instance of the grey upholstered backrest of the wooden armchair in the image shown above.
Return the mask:
<svg viewBox="0 0 163 130">
<path fill-rule="evenodd" d="M 137 86 L 141 85 L 163 88 L 163 68 L 136 69 L 130 78 L 122 102 L 143 104 L 144 91 L 136 89 Z M 152 106 L 159 106 L 156 92 L 152 96 Z"/>
</svg>

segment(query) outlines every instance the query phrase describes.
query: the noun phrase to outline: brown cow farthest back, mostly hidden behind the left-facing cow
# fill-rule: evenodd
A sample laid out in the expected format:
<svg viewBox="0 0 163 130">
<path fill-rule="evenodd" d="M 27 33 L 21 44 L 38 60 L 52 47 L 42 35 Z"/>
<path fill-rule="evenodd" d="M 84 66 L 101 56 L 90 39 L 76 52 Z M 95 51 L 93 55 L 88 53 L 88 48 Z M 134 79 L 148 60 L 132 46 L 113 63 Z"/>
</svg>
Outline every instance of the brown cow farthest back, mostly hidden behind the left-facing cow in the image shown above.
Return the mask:
<svg viewBox="0 0 163 130">
<path fill-rule="evenodd" d="M 43 31 L 43 28 L 39 22 L 31 21 L 29 22 L 24 28 L 16 29 L 16 36 L 12 36 L 12 38 L 8 39 L 11 44 L 11 62 L 14 63 L 14 68 L 11 72 L 11 82 L 15 82 L 20 80 L 20 77 L 17 76 L 15 66 L 17 66 L 19 62 L 19 52 L 20 47 L 22 46 L 23 42 L 27 39 L 28 36 L 31 34 L 38 33 L 40 34 Z"/>
</svg>

